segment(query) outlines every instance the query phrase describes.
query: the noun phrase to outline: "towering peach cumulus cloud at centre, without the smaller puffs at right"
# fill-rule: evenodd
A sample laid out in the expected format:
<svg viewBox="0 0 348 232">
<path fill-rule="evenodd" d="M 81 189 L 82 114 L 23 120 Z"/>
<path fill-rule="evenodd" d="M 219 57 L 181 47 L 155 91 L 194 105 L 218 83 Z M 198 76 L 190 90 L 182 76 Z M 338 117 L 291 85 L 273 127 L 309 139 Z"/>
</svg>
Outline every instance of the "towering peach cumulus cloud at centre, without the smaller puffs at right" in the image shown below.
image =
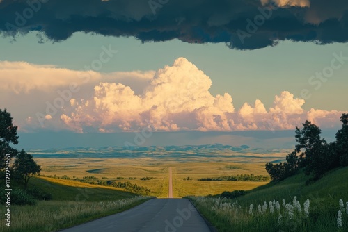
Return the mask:
<svg viewBox="0 0 348 232">
<path fill-rule="evenodd" d="M 65 124 L 94 125 L 128 131 L 141 126 L 155 130 L 230 130 L 227 113 L 233 113 L 230 94 L 212 96 L 212 81 L 185 58 L 159 69 L 141 95 L 116 83 L 100 83 L 93 99 L 72 101 L 72 113 L 62 115 Z M 191 123 L 188 123 L 191 120 Z M 77 124 L 74 124 L 75 126 Z M 78 130 L 81 131 L 81 130 Z"/>
</svg>

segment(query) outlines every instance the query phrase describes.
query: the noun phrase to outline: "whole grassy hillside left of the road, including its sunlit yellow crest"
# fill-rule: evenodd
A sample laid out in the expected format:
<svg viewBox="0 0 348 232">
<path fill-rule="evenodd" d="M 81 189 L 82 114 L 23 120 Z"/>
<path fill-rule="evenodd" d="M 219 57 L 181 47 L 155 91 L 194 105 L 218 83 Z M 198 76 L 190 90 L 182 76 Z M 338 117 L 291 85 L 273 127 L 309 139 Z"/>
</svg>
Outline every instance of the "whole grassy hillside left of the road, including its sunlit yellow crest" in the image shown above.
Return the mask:
<svg viewBox="0 0 348 232">
<path fill-rule="evenodd" d="M 37 201 L 35 206 L 11 206 L 11 227 L 0 222 L 0 231 L 60 231 L 93 219 L 120 213 L 147 201 L 148 197 L 116 188 L 78 181 L 34 177 L 29 188 L 50 192 L 52 201 Z M 5 212 L 5 206 L 0 206 Z"/>
</svg>

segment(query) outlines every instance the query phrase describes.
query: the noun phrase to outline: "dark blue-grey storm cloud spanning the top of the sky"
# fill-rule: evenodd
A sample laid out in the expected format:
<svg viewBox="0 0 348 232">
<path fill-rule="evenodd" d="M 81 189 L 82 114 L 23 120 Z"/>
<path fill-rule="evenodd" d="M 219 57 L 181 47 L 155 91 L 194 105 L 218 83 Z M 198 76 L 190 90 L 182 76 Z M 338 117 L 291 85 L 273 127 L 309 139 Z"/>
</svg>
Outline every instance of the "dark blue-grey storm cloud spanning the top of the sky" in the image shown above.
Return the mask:
<svg viewBox="0 0 348 232">
<path fill-rule="evenodd" d="M 232 49 L 274 46 L 279 40 L 327 44 L 348 41 L 348 1 L 0 0 L 0 31 L 5 36 L 42 31 L 54 41 L 77 31 L 143 42 L 177 38 L 226 42 Z"/>
</svg>

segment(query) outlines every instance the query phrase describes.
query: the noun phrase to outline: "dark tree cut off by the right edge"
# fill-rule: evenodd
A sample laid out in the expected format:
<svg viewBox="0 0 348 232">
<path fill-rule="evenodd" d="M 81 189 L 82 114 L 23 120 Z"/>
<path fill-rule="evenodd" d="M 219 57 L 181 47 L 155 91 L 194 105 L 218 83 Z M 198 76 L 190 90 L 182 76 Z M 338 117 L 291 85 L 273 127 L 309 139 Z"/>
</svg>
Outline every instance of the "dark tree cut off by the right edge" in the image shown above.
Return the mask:
<svg viewBox="0 0 348 232">
<path fill-rule="evenodd" d="M 342 129 L 336 133 L 335 150 L 340 158 L 340 165 L 348 165 L 348 113 L 342 114 L 340 117 L 342 122 Z"/>
</svg>

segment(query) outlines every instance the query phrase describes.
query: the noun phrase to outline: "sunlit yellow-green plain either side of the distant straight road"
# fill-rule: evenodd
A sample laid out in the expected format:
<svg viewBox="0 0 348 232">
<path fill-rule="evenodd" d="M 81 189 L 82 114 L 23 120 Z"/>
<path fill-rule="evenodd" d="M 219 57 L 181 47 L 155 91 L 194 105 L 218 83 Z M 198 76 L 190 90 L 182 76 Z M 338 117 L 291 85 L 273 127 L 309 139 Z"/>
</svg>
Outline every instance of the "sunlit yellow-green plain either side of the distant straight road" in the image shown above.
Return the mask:
<svg viewBox="0 0 348 232">
<path fill-rule="evenodd" d="M 237 174 L 267 175 L 264 162 L 233 163 L 233 162 L 165 162 L 147 158 L 36 158 L 42 166 L 41 174 L 45 176 L 67 175 L 71 179 L 95 176 L 98 179 L 124 179 L 136 185 L 150 188 L 152 196 L 168 197 L 168 167 L 173 172 L 173 197 L 187 195 L 206 196 L 219 194 L 223 191 L 251 190 L 267 182 L 253 181 L 198 181 L 201 178 L 228 176 Z M 154 162 L 155 161 L 155 162 Z M 143 177 L 154 179 L 142 181 Z M 136 177 L 129 180 L 129 177 Z M 190 177 L 189 181 L 184 179 Z M 58 181 L 58 180 L 56 180 Z"/>
</svg>

